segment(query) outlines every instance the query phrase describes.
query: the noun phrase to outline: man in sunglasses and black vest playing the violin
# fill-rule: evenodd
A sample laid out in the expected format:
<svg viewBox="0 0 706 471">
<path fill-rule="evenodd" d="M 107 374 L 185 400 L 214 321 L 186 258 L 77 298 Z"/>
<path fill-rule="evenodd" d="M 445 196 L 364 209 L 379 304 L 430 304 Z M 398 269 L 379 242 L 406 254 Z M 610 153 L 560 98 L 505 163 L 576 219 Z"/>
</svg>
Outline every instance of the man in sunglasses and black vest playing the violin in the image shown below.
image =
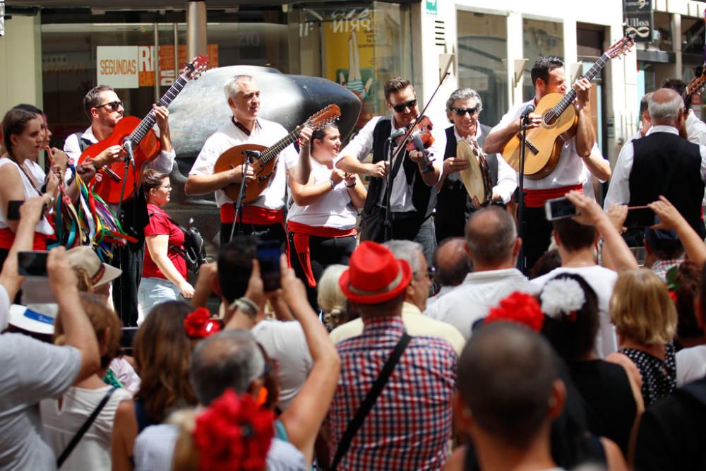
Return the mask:
<svg viewBox="0 0 706 471">
<path fill-rule="evenodd" d="M 337 167 L 349 173 L 373 177 L 361 215 L 361 240 L 385 242 L 385 175 L 392 172 L 390 218 L 393 239 L 419 242 L 424 256 L 431 263 L 436 248 L 436 235 L 431 213 L 436 205 L 436 185 L 441 174 L 443 132 L 434 133 L 434 143 L 426 149 L 402 150 L 397 159 L 388 164 L 388 138 L 400 129 L 415 123 L 419 117 L 417 94 L 406 78 L 390 78 L 385 83 L 385 105 L 392 116 L 376 117 L 368 121 L 355 138 L 341 151 Z M 397 148 L 392 143 L 392 152 Z M 372 163 L 363 160 L 373 153 Z"/>
</svg>

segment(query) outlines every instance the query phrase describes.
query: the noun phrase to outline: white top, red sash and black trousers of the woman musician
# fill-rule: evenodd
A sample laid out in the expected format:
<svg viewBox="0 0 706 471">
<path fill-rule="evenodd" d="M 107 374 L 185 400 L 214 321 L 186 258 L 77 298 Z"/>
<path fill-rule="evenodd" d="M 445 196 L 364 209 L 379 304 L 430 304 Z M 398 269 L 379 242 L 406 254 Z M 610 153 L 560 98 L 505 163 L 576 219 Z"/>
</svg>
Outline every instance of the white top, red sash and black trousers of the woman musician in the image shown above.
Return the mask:
<svg viewBox="0 0 706 471">
<path fill-rule="evenodd" d="M 313 184 L 328 184 L 331 169 L 313 158 L 310 161 L 310 181 Z M 334 167 L 336 162 L 337 159 L 334 160 Z M 357 214 L 345 180 L 327 191 L 316 203 L 306 206 L 292 203 L 287 213 L 289 242 L 294 248 L 290 251 L 290 261 L 309 287 L 316 286 L 316 280 L 327 266 L 334 263 L 348 264 L 355 249 Z M 298 263 L 294 263 L 295 258 Z"/>
</svg>

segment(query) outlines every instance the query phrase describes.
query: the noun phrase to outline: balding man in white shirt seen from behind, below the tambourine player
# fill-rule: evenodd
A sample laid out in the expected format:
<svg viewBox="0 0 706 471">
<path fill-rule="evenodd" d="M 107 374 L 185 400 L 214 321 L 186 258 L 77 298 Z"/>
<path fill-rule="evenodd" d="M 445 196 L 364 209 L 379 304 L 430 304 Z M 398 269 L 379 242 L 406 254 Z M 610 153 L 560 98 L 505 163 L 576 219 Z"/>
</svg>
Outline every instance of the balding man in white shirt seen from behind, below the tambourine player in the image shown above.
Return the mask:
<svg viewBox="0 0 706 471">
<path fill-rule="evenodd" d="M 515 220 L 507 211 L 490 206 L 473 213 L 466 223 L 466 244 L 473 273 L 429 306 L 425 314 L 450 323 L 469 338 L 472 324 L 485 317 L 508 294 L 513 291 L 534 294 L 538 290 L 515 268 L 522 240 L 517 237 Z"/>
</svg>

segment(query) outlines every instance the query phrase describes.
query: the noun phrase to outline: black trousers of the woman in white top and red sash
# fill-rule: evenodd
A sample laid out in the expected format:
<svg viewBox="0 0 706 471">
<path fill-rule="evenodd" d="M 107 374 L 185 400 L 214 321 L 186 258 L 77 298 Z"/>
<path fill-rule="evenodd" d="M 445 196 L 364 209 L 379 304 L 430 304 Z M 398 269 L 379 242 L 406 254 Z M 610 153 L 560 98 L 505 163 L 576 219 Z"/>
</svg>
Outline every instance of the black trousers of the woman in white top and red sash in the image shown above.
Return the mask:
<svg viewBox="0 0 706 471">
<path fill-rule="evenodd" d="M 330 265 L 335 265 L 337 263 L 340 263 L 341 265 L 348 265 L 351 254 L 355 249 L 355 245 L 355 236 L 309 237 L 309 258 L 311 261 L 311 272 L 313 273 L 314 280 L 318 283 L 318 280 L 321 279 L 321 275 L 323 274 L 323 270 Z M 304 286 L 306 286 L 306 297 L 309 299 L 309 304 L 311 304 L 314 311 L 318 311 L 318 302 L 316 300 L 318 290 L 316 289 L 316 286 L 310 287 L 306 284 L 304 268 L 301 267 L 299 256 L 297 256 L 297 251 L 294 250 L 293 232 L 289 232 L 289 247 L 289 263 L 292 264 L 292 268 L 294 268 L 294 273 L 297 274 L 297 277 L 304 281 Z"/>
</svg>

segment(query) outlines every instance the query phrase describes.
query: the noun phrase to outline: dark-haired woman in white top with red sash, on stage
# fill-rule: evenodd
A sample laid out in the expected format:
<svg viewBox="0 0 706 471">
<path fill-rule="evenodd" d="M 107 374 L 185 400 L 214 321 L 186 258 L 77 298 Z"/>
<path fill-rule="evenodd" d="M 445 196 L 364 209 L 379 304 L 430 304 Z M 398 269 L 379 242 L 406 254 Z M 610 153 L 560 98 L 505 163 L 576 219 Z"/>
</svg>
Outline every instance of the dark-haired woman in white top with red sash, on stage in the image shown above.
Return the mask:
<svg viewBox="0 0 706 471">
<path fill-rule="evenodd" d="M 336 168 L 341 147 L 338 126 L 333 123 L 311 135 L 311 175 L 302 185 L 289 179 L 294 204 L 287 213 L 292 267 L 306 281 L 309 304 L 317 309 L 316 282 L 323 270 L 340 263 L 348 265 L 356 246 L 357 209 L 367 191 L 357 174 Z"/>
</svg>

